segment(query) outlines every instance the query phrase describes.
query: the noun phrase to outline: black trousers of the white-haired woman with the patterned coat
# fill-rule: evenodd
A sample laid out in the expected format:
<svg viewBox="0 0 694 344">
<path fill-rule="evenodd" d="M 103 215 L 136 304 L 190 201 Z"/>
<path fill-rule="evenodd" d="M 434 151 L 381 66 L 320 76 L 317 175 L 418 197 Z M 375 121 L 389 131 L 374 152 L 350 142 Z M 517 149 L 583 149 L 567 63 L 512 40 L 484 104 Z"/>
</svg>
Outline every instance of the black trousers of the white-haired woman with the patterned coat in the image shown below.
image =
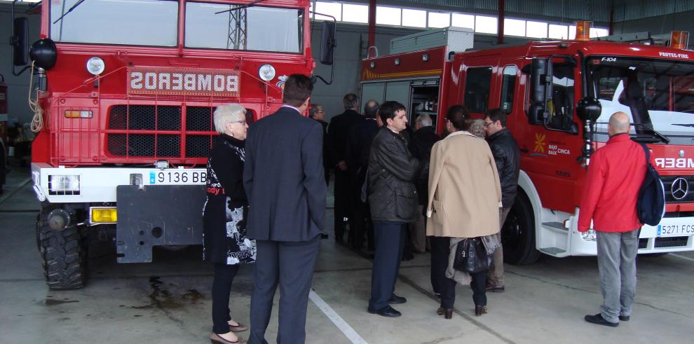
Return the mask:
<svg viewBox="0 0 694 344">
<path fill-rule="evenodd" d="M 217 334 L 229 332 L 229 293 L 237 272 L 238 264 L 215 263 L 215 277 L 212 280 L 212 332 Z"/>
</svg>

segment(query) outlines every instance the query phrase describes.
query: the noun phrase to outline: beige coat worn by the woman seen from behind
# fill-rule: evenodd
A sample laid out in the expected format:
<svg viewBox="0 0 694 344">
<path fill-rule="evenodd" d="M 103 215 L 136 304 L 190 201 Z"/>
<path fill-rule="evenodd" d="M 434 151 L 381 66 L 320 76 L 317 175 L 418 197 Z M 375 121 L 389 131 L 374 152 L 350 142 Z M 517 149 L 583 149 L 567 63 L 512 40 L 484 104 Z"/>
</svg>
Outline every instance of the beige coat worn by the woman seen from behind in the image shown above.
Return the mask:
<svg viewBox="0 0 694 344">
<path fill-rule="evenodd" d="M 481 137 L 454 132 L 436 142 L 429 164 L 426 235 L 475 238 L 498 233 L 501 186 Z"/>
</svg>

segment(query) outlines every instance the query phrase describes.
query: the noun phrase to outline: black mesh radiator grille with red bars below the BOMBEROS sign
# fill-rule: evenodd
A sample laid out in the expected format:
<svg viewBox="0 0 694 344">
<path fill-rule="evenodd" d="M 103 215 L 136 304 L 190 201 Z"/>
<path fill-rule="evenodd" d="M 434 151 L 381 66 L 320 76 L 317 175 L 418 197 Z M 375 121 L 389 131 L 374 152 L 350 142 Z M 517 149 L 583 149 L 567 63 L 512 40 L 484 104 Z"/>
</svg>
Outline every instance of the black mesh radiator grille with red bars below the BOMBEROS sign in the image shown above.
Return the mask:
<svg viewBox="0 0 694 344">
<path fill-rule="evenodd" d="M 207 158 L 216 135 L 212 111 L 187 106 L 183 116 L 181 106 L 111 106 L 107 151 L 121 157 Z"/>
</svg>

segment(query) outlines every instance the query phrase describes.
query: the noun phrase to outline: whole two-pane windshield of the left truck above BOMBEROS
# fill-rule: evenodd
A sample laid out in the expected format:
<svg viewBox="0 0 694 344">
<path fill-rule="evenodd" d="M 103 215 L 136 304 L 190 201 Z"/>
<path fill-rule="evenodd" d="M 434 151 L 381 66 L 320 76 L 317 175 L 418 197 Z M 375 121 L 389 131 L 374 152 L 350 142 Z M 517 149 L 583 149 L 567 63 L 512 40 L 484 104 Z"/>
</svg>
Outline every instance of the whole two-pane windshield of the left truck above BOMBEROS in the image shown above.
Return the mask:
<svg viewBox="0 0 694 344">
<path fill-rule="evenodd" d="M 178 4 L 173 0 L 51 0 L 50 38 L 67 43 L 174 47 Z M 248 5 L 186 2 L 185 46 L 303 51 L 303 10 Z"/>
</svg>

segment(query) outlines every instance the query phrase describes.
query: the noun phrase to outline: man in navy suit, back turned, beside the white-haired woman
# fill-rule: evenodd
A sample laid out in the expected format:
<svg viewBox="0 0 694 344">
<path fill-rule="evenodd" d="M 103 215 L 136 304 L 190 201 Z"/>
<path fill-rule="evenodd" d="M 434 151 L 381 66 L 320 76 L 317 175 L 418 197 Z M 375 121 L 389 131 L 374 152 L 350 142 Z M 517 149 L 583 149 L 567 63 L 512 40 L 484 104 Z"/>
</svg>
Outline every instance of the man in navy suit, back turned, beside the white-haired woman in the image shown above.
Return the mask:
<svg viewBox="0 0 694 344">
<path fill-rule="evenodd" d="M 283 106 L 248 129 L 243 185 L 247 236 L 257 241 L 248 343 L 267 343 L 280 284 L 278 343 L 306 341 L 306 307 L 325 222 L 327 186 L 322 126 L 301 116 L 313 84 L 301 74 L 285 83 Z"/>
</svg>

